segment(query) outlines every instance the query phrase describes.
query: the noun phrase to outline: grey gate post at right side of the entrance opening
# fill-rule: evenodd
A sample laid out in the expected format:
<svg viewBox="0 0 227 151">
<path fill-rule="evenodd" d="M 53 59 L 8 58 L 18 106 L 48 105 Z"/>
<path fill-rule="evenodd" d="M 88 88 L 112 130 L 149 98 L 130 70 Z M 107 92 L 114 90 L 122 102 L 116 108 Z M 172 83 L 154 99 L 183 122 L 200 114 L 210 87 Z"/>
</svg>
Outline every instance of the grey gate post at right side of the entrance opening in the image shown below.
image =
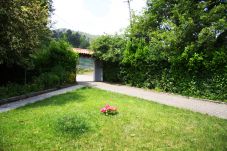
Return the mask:
<svg viewBox="0 0 227 151">
<path fill-rule="evenodd" d="M 103 81 L 103 64 L 99 60 L 95 60 L 94 81 L 95 82 Z"/>
</svg>

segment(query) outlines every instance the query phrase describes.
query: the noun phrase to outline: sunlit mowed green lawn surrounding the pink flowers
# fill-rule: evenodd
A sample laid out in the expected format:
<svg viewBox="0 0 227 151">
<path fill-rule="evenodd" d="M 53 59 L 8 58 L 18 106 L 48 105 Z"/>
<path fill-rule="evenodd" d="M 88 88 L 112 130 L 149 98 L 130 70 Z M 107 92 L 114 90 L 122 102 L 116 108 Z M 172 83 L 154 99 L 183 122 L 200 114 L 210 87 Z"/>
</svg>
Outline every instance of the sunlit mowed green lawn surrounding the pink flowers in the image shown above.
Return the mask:
<svg viewBox="0 0 227 151">
<path fill-rule="evenodd" d="M 105 116 L 105 104 L 119 114 Z M 227 150 L 227 121 L 93 88 L 0 114 L 0 150 Z"/>
</svg>

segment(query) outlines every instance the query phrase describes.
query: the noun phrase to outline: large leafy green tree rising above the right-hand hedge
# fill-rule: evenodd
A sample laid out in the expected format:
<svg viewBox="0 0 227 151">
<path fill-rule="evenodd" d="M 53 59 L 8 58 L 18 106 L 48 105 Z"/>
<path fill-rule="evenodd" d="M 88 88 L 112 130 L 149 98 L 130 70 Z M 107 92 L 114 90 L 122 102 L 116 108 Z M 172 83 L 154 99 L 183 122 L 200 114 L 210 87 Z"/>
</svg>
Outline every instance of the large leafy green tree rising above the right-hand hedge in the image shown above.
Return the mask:
<svg viewBox="0 0 227 151">
<path fill-rule="evenodd" d="M 227 55 L 225 1 L 148 0 L 147 4 L 144 14 L 134 17 L 129 30 L 134 43 L 129 60 L 161 59 L 177 69 L 197 73 L 220 68 L 215 65 L 217 52 Z M 135 55 L 138 51 L 143 55 Z M 226 61 L 219 59 L 224 69 Z"/>
</svg>

